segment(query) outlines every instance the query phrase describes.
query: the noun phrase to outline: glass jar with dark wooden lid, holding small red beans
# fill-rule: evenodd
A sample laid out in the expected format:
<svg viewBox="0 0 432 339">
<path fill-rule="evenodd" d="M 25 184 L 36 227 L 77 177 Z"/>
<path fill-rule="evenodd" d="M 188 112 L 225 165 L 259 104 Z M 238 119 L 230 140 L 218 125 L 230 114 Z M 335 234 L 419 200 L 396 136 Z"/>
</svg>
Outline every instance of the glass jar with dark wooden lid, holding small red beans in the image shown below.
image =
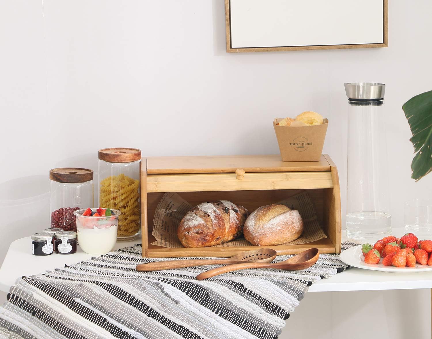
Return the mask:
<svg viewBox="0 0 432 339">
<path fill-rule="evenodd" d="M 76 232 L 73 212 L 92 208 L 93 171 L 86 168 L 62 167 L 50 170 L 51 227 Z"/>
</svg>

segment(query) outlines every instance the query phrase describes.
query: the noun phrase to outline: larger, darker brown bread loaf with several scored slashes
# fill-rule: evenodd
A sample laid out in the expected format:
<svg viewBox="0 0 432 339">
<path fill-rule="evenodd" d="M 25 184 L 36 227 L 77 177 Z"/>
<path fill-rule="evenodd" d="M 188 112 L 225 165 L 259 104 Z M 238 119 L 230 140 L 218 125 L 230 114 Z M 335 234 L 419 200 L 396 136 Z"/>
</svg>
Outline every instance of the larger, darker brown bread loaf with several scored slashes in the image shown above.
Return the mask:
<svg viewBox="0 0 432 339">
<path fill-rule="evenodd" d="M 237 238 L 248 217 L 245 207 L 231 201 L 204 202 L 187 212 L 177 236 L 184 247 L 209 247 Z"/>
</svg>

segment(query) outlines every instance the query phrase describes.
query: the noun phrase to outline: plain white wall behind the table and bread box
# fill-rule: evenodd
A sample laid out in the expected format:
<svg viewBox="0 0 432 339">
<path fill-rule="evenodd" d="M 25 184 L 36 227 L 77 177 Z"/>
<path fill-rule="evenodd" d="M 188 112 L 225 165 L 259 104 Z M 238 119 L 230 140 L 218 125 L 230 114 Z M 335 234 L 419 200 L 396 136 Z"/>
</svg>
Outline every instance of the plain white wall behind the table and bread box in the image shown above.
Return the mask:
<svg viewBox="0 0 432 339">
<path fill-rule="evenodd" d="M 50 168 L 96 169 L 97 150 L 116 146 L 148 156 L 275 154 L 273 118 L 303 110 L 330 120 L 324 152 L 339 168 L 344 209 L 343 83 L 352 81 L 387 84 L 391 213 L 394 226 L 403 226 L 403 202 L 426 198 L 432 188 L 432 175 L 410 179 L 413 147 L 401 110 L 410 97 L 432 89 L 431 11 L 429 0 L 415 6 L 392 0 L 388 48 L 227 54 L 223 0 L 2 1 L 0 212 L 14 215 L 0 226 L 0 259 L 11 241 L 47 226 Z M 16 206 L 29 197 L 36 198 Z M 344 300 L 372 301 L 381 295 L 375 293 L 309 293 L 281 337 L 301 337 L 307 323 L 295 314 L 307 300 L 315 302 L 311 308 L 331 302 L 341 309 Z M 388 298 L 378 300 L 403 293 L 383 292 Z M 429 293 L 409 293 L 425 300 L 426 313 L 413 312 L 429 323 Z M 361 328 L 362 310 L 349 307 L 354 316 L 344 328 Z M 343 314 L 321 317 L 337 323 Z M 400 329 L 402 322 L 389 318 L 384 337 L 392 326 Z M 423 327 L 415 330 L 418 337 L 429 336 Z"/>
</svg>

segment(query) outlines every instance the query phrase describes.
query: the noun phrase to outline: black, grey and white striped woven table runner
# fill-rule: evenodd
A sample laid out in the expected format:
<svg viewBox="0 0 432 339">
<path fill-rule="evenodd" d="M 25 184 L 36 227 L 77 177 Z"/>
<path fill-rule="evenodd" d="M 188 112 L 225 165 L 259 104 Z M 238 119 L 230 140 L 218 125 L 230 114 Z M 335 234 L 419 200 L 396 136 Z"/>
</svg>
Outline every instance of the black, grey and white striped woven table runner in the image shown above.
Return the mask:
<svg viewBox="0 0 432 339">
<path fill-rule="evenodd" d="M 23 277 L 0 308 L 0 338 L 276 338 L 308 286 L 347 268 L 337 254 L 321 254 L 302 271 L 248 269 L 204 281 L 195 276 L 220 265 L 135 270 L 165 260 L 141 257 L 136 245 Z"/>
</svg>

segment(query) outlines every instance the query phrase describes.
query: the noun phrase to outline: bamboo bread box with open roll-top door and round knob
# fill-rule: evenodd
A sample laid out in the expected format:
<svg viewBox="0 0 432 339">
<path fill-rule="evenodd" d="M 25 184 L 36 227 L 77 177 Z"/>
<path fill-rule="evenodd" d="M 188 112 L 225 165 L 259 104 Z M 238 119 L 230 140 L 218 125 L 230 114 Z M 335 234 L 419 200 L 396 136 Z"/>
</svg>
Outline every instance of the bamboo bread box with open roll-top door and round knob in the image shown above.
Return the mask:
<svg viewBox="0 0 432 339">
<path fill-rule="evenodd" d="M 150 245 L 153 217 L 166 192 L 178 192 L 196 206 L 204 201 L 229 200 L 248 209 L 275 204 L 307 191 L 327 238 L 301 245 L 263 246 L 278 254 L 308 248 L 340 253 L 339 177 L 327 154 L 319 161 L 283 162 L 280 155 L 148 157 L 141 166 L 141 230 L 143 257 L 229 257 L 260 246 L 165 248 Z"/>
</svg>

